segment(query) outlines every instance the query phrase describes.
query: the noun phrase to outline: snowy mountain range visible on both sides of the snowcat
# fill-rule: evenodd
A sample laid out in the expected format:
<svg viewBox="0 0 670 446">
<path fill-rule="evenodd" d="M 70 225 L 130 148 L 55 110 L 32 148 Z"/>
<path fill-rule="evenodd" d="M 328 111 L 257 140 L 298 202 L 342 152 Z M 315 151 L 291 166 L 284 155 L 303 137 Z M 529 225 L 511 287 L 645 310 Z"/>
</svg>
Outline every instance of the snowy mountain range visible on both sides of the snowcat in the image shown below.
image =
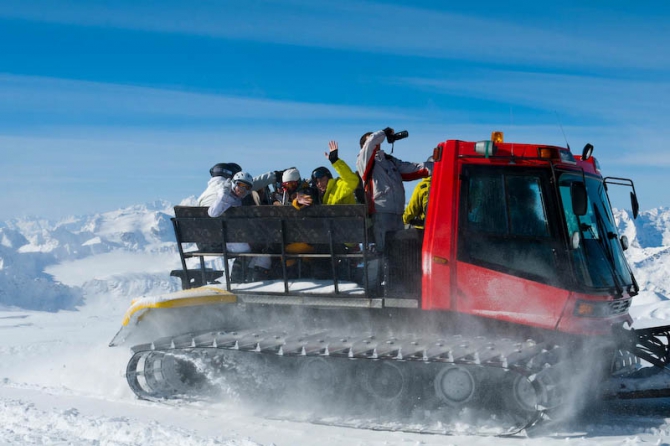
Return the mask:
<svg viewBox="0 0 670 446">
<path fill-rule="evenodd" d="M 193 204 L 194 197 L 180 204 Z M 21 218 L 0 222 L 0 307 L 74 309 L 90 295 L 124 302 L 175 291 L 179 268 L 170 218 L 173 205 L 155 201 L 60 221 Z M 640 287 L 640 299 L 670 298 L 670 209 L 617 210 L 619 233 Z"/>
</svg>

